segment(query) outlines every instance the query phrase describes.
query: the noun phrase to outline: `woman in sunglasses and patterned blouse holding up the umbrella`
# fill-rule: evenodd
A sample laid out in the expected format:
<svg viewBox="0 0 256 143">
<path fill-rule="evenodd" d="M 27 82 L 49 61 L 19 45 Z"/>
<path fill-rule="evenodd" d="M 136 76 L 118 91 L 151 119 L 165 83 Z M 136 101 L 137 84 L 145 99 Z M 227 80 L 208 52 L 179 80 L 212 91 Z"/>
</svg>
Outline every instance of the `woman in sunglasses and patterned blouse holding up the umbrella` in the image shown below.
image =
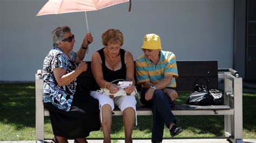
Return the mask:
<svg viewBox="0 0 256 143">
<path fill-rule="evenodd" d="M 52 31 L 53 48 L 44 59 L 44 108 L 49 109 L 57 142 L 87 142 L 91 131 L 99 130 L 98 101 L 76 89 L 76 77 L 87 70 L 82 62 L 92 35 L 86 33 L 78 52 L 73 52 L 75 36 L 68 26 Z M 77 66 L 78 65 L 78 66 Z M 87 93 L 89 94 L 89 92 Z"/>
</svg>

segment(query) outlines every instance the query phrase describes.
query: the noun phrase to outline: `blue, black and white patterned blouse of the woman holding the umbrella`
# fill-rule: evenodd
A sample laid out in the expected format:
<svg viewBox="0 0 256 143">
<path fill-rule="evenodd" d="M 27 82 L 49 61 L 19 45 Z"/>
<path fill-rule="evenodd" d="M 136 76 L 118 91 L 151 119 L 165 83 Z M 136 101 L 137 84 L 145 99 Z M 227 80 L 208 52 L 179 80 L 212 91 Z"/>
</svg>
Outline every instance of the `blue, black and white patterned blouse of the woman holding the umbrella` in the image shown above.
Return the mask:
<svg viewBox="0 0 256 143">
<path fill-rule="evenodd" d="M 76 79 L 67 85 L 60 86 L 53 75 L 53 69 L 64 68 L 66 73 L 75 70 L 77 68 L 75 63 L 77 54 L 72 51 L 70 52 L 70 57 L 71 60 L 69 60 L 62 49 L 53 47 L 45 57 L 43 65 L 43 102 L 51 102 L 57 108 L 64 111 L 70 111 L 73 95 L 76 92 Z"/>
</svg>

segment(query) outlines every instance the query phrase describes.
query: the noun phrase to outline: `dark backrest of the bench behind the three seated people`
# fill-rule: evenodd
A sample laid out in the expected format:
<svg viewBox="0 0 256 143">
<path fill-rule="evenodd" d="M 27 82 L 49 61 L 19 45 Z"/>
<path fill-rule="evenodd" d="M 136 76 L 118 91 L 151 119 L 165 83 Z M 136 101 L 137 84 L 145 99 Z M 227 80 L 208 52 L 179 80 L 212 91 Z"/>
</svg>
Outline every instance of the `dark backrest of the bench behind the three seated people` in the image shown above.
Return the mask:
<svg viewBox="0 0 256 143">
<path fill-rule="evenodd" d="M 77 77 L 78 88 L 87 91 L 97 90 L 98 86 L 91 72 L 91 61 L 86 63 L 87 70 Z M 177 61 L 177 67 L 179 74 L 176 78 L 177 91 L 193 91 L 196 84 L 218 89 L 217 61 Z"/>
</svg>

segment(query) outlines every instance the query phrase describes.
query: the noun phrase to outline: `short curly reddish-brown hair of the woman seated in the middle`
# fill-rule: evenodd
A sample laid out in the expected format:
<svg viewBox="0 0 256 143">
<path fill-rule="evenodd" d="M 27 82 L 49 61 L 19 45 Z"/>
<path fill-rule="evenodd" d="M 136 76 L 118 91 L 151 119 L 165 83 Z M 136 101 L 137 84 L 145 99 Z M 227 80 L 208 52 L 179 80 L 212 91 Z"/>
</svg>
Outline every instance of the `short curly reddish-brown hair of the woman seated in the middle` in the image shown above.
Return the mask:
<svg viewBox="0 0 256 143">
<path fill-rule="evenodd" d="M 119 43 L 120 46 L 124 44 L 123 33 L 118 29 L 109 29 L 102 34 L 102 44 L 107 46 L 110 43 Z"/>
</svg>

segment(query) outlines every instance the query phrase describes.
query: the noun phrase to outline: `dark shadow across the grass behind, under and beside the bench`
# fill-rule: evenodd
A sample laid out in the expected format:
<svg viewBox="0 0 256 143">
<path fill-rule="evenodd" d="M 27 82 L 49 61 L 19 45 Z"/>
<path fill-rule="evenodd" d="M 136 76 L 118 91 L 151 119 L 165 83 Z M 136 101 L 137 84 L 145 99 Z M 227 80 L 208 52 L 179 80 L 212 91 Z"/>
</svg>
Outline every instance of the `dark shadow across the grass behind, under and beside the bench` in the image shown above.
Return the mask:
<svg viewBox="0 0 256 143">
<path fill-rule="evenodd" d="M 190 92 L 179 92 L 176 104 L 185 104 Z M 0 122 L 15 125 L 16 130 L 35 127 L 35 83 L 0 84 Z M 138 102 L 139 103 L 139 102 Z M 243 94 L 243 127 L 255 134 L 256 94 Z M 224 135 L 224 116 L 176 116 L 178 126 L 188 131 L 191 137 L 201 134 L 220 137 Z M 50 120 L 46 118 L 46 123 Z M 134 130 L 151 133 L 152 116 L 138 116 L 138 126 Z M 123 132 L 122 116 L 113 116 L 112 133 Z M 189 135 L 190 135 L 189 134 Z M 181 134 L 182 135 L 182 134 Z M 184 134 L 188 137 L 188 134 Z M 256 138 L 256 137 L 255 137 Z"/>
</svg>

